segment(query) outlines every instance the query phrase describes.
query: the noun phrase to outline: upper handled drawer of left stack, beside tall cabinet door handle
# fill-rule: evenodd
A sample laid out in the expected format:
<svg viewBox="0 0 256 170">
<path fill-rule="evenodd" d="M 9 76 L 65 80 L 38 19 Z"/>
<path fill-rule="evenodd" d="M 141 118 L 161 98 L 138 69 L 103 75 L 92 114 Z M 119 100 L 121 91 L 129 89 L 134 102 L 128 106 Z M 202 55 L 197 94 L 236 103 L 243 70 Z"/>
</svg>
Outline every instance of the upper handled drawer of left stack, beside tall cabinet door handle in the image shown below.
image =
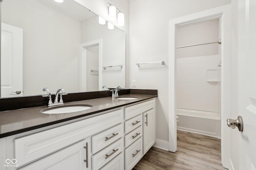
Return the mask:
<svg viewBox="0 0 256 170">
<path fill-rule="evenodd" d="M 116 125 L 92 137 L 92 154 L 110 145 L 124 135 L 124 124 Z"/>
</svg>

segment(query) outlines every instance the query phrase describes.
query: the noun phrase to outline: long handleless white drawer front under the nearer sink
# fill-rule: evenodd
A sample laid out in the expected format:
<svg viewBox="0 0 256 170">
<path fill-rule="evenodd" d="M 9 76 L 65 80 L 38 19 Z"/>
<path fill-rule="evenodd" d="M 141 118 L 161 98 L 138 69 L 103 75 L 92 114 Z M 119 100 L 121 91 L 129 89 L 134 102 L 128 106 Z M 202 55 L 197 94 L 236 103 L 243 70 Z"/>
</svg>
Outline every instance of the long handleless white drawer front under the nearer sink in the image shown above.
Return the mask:
<svg viewBox="0 0 256 170">
<path fill-rule="evenodd" d="M 19 165 L 34 162 L 85 137 L 121 123 L 124 110 L 118 109 L 81 121 L 34 133 L 14 140 L 15 159 Z"/>
</svg>

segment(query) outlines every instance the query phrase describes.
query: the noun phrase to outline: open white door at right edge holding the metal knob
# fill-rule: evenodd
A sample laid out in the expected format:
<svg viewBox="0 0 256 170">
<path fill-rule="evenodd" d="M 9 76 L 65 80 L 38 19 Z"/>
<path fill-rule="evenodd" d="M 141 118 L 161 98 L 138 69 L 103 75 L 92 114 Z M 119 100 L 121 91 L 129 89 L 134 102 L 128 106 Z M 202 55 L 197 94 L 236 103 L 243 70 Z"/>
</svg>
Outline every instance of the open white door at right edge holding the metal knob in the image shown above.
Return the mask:
<svg viewBox="0 0 256 170">
<path fill-rule="evenodd" d="M 231 169 L 256 169 L 256 1 L 238 3 L 238 115 L 243 131 L 230 129 Z M 244 24 L 245 23 L 245 24 Z"/>
</svg>

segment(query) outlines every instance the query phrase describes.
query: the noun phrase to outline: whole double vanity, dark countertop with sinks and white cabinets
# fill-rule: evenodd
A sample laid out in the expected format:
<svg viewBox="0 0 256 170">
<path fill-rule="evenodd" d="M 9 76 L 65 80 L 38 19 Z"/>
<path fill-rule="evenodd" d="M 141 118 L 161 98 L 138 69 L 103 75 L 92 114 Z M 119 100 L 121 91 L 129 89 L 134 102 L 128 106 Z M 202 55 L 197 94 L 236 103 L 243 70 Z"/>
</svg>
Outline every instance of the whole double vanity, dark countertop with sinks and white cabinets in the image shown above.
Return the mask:
<svg viewBox="0 0 256 170">
<path fill-rule="evenodd" d="M 0 112 L 0 169 L 131 170 L 156 141 L 157 90 L 124 91 Z"/>
</svg>

